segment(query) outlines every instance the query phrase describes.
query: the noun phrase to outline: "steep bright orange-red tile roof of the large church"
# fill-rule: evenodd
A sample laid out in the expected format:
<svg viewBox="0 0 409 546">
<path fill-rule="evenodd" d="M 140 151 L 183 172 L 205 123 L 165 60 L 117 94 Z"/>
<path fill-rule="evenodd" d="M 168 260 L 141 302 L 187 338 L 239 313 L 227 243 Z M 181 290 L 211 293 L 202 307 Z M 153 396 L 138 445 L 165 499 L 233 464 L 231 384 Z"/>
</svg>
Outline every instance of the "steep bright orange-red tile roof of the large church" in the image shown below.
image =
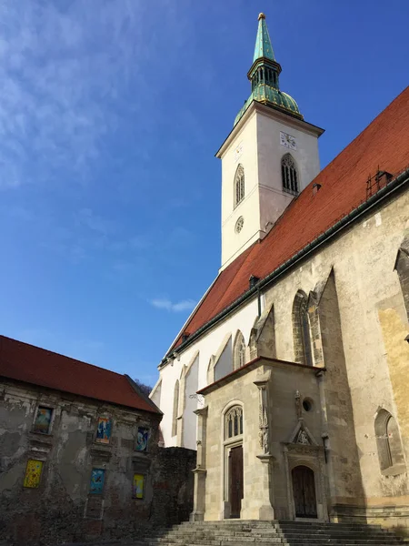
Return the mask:
<svg viewBox="0 0 409 546">
<path fill-rule="evenodd" d="M 409 164 L 409 87 L 335 157 L 286 208 L 269 234 L 225 268 L 185 324 L 194 334 L 249 288 L 366 199 L 366 180 L 380 170 L 399 174 Z M 314 195 L 313 185 L 320 184 Z M 174 348 L 182 343 L 175 340 Z"/>
</svg>

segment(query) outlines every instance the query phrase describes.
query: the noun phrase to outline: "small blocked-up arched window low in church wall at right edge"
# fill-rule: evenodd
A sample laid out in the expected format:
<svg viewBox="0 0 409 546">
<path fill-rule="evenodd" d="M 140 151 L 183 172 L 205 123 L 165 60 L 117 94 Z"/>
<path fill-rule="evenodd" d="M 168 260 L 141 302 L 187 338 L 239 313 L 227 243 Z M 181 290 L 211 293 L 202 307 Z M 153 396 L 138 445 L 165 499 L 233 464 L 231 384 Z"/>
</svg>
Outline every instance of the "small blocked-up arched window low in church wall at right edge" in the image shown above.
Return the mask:
<svg viewBox="0 0 409 546">
<path fill-rule="evenodd" d="M 397 465 L 404 464 L 401 437 L 389 411 L 379 410 L 375 422 L 374 431 L 378 448 L 379 466 L 387 474 L 388 469 L 396 469 Z"/>
</svg>

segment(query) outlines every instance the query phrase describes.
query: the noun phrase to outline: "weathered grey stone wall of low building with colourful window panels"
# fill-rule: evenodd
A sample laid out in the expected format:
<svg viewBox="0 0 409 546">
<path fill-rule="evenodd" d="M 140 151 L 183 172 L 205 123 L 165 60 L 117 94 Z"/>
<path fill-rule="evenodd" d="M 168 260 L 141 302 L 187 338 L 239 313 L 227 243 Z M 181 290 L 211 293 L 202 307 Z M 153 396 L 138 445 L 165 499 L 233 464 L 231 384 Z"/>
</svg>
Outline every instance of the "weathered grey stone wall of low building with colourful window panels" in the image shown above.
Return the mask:
<svg viewBox="0 0 409 546">
<path fill-rule="evenodd" d="M 38 405 L 53 408 L 49 434 L 33 431 Z M 95 441 L 100 416 L 112 420 L 109 443 Z M 0 536 L 18 546 L 135 539 L 144 529 L 188 519 L 195 451 L 158 448 L 160 418 L 2 381 Z M 149 430 L 144 452 L 136 450 L 139 426 Z M 28 460 L 43 463 L 38 487 L 25 487 Z M 105 471 L 100 494 L 91 492 L 93 469 Z M 144 476 L 142 498 L 133 498 L 135 474 Z"/>
</svg>

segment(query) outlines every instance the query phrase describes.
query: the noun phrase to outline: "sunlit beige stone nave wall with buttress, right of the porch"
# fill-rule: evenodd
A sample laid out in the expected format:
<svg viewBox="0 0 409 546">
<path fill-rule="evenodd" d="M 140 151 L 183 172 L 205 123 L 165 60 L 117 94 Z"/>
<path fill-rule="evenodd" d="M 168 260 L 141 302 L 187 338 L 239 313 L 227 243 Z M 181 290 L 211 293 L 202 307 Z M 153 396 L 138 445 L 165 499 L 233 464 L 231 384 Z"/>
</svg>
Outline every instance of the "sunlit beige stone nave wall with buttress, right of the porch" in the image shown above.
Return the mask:
<svg viewBox="0 0 409 546">
<path fill-rule="evenodd" d="M 328 314 L 335 293 L 327 288 L 321 301 L 320 333 L 328 369 L 324 392 L 334 463 L 334 504 L 379 507 L 393 502 L 404 511 L 409 505 L 406 473 L 385 476 L 380 471 L 374 432 L 374 417 L 384 408 L 399 423 L 407 460 L 404 369 L 409 345 L 404 338 L 409 326 L 394 262 L 408 211 L 406 194 L 344 232 L 266 294 L 266 301 L 274 302 L 277 356 L 293 359 L 293 332 L 288 325 L 294 294 L 300 288 L 307 294 L 314 291 L 334 272 L 339 321 L 334 325 L 334 310 Z"/>
</svg>

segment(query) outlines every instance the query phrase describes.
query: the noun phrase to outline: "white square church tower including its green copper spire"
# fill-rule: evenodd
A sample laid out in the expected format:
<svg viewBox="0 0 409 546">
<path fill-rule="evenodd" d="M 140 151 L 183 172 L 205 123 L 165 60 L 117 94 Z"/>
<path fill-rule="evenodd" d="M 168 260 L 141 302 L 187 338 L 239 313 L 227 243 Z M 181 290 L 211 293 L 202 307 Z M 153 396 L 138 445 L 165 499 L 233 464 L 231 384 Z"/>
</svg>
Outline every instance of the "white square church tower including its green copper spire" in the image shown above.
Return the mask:
<svg viewBox="0 0 409 546">
<path fill-rule="evenodd" d="M 280 74 L 260 14 L 247 74 L 252 92 L 216 154 L 222 159 L 221 269 L 264 238 L 320 170 L 318 137 L 324 130 L 304 121 L 294 98 L 280 90 Z"/>
</svg>

